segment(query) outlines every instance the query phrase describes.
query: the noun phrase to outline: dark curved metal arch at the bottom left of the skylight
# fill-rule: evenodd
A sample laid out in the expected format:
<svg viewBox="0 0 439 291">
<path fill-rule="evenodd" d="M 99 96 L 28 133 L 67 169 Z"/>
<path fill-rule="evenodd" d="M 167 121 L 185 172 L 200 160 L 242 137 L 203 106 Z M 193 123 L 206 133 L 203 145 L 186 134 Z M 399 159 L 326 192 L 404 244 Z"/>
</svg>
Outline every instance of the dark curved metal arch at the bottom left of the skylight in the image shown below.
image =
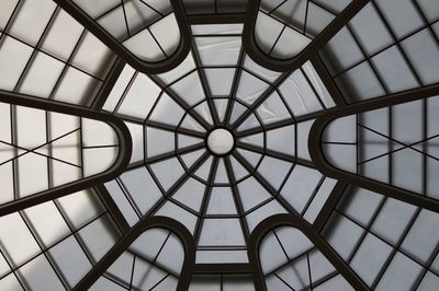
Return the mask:
<svg viewBox="0 0 439 291">
<path fill-rule="evenodd" d="M 166 229 L 176 233 L 184 245 L 184 261 L 177 286 L 178 291 L 188 290 L 192 269 L 195 263 L 195 242 L 192 234 L 180 222 L 167 217 L 150 217 L 135 224 L 124 236 L 93 266 L 74 290 L 82 291 L 89 288 L 105 272 L 108 268 L 125 252 L 137 237 L 150 229 Z"/>
</svg>

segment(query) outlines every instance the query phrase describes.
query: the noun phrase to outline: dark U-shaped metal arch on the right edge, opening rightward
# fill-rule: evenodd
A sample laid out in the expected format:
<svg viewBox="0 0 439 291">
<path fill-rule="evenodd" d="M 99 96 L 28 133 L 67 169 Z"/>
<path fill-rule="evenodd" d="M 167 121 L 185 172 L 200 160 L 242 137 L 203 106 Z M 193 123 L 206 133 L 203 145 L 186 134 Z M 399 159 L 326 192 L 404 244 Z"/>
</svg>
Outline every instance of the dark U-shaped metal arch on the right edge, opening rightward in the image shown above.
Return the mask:
<svg viewBox="0 0 439 291">
<path fill-rule="evenodd" d="M 439 201 L 416 193 L 405 190 L 384 184 L 378 181 L 370 179 L 347 171 L 340 170 L 330 164 L 323 152 L 320 140 L 326 126 L 337 118 L 348 115 L 364 113 L 373 109 L 379 109 L 392 105 L 398 105 L 412 101 L 417 101 L 430 96 L 439 95 L 439 84 L 408 90 L 402 93 L 391 94 L 384 97 L 379 97 L 353 105 L 347 105 L 338 108 L 327 110 L 322 116 L 317 117 L 309 130 L 308 151 L 311 159 L 318 171 L 324 175 L 340 179 L 371 191 L 380 193 L 385 196 L 402 200 L 421 207 L 435 212 L 439 212 Z"/>
</svg>

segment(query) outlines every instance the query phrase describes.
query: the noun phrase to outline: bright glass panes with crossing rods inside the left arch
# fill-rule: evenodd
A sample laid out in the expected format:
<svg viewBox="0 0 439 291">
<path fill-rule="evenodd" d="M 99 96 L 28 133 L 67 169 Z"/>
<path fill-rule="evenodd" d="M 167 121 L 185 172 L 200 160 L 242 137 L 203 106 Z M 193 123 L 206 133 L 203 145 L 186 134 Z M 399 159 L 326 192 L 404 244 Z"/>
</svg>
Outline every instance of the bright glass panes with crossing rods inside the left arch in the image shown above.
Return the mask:
<svg viewBox="0 0 439 291">
<path fill-rule="evenodd" d="M 119 154 L 104 121 L 0 103 L 0 205 L 101 174 Z"/>
</svg>

